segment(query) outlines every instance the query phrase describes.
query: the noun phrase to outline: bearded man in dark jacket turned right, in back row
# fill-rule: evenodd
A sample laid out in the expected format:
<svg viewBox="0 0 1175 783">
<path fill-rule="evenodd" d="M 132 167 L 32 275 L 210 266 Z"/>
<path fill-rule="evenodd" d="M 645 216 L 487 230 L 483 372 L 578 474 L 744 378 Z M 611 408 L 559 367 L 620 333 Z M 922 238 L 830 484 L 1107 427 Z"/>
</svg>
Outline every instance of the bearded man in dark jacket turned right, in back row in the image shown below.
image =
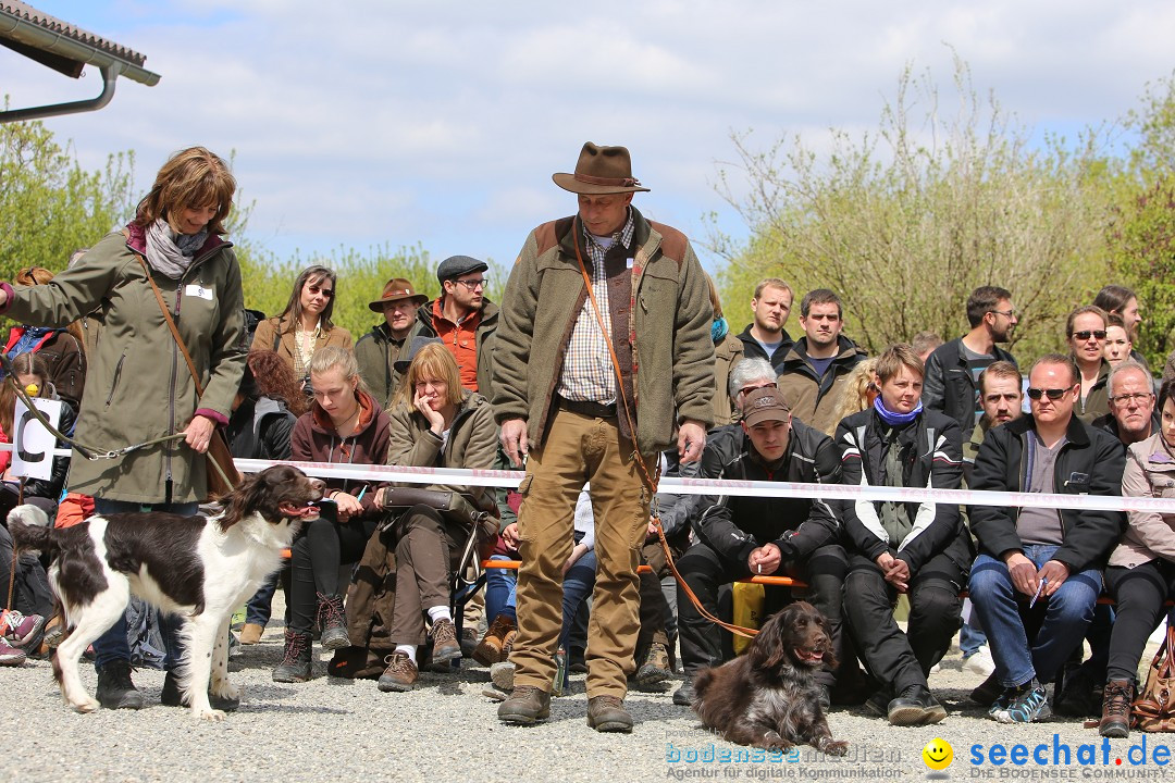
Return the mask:
<svg viewBox="0 0 1175 783">
<path fill-rule="evenodd" d="M 971 432 L 982 413 L 976 393 L 979 376 L 995 362 L 1015 358 L 999 345 L 1007 343 L 1019 322 L 1012 305 L 1012 292 L 994 285 L 982 285 L 967 298 L 967 323 L 971 331 L 939 346 L 926 360 L 926 384 L 922 404 L 941 411 Z"/>
</svg>

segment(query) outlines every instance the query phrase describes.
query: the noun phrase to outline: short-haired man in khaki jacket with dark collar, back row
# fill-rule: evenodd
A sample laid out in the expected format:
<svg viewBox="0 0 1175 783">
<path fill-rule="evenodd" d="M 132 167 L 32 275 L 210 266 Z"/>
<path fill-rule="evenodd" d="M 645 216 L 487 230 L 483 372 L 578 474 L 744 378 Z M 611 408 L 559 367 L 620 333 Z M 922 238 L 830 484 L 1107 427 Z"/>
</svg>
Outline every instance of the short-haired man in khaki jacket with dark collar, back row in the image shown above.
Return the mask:
<svg viewBox="0 0 1175 783">
<path fill-rule="evenodd" d="M 804 337 L 792 345 L 779 373 L 779 391 L 792 406 L 792 416 L 828 436 L 837 431 L 837 409 L 848 376 L 866 357 L 840 333 L 844 325 L 840 297 L 833 291 L 805 293 L 800 299 Z"/>
</svg>

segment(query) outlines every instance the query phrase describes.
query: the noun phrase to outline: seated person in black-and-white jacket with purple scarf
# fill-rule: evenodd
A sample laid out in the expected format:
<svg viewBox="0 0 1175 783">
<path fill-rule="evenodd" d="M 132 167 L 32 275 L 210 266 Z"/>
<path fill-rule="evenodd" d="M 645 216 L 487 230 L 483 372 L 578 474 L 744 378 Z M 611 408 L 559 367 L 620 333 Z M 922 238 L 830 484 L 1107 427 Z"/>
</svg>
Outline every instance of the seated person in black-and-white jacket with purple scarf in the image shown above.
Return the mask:
<svg viewBox="0 0 1175 783">
<path fill-rule="evenodd" d="M 873 406 L 837 427 L 842 481 L 958 490 L 962 433 L 954 419 L 922 410 L 922 362 L 909 345 L 892 345 L 878 358 L 877 385 Z M 845 615 L 881 684 L 866 707 L 894 725 L 938 723 L 946 710 L 926 677 L 959 629 L 959 589 L 973 558 L 959 506 L 861 500 L 841 508 L 853 549 Z M 893 619 L 899 593 L 909 595 L 906 634 Z"/>
</svg>

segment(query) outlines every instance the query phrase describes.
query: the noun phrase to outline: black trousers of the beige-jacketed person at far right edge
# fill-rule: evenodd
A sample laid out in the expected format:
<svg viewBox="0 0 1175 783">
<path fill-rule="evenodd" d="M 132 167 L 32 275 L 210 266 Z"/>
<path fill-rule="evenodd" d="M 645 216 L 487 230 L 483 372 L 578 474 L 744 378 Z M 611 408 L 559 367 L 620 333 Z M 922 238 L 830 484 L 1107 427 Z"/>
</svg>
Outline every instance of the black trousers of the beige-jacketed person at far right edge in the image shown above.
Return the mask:
<svg viewBox="0 0 1175 783">
<path fill-rule="evenodd" d="M 1106 680 L 1134 682 L 1147 637 L 1167 614 L 1163 602 L 1175 598 L 1175 563 L 1160 559 L 1134 568 L 1110 566 L 1106 569 L 1106 585 L 1117 608 Z"/>
</svg>

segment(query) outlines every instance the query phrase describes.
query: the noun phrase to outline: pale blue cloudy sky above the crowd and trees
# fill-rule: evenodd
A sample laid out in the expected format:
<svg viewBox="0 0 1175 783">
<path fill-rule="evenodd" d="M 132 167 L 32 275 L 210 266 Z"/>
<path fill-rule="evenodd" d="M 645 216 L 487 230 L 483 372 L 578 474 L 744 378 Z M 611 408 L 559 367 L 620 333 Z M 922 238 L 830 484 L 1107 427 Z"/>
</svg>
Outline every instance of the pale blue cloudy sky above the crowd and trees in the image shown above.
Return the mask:
<svg viewBox="0 0 1175 783">
<path fill-rule="evenodd" d="M 906 65 L 949 87 L 953 49 L 1020 122 L 1073 135 L 1175 66 L 1175 4 L 1157 1 L 32 5 L 162 75 L 45 121 L 83 166 L 133 149 L 141 193 L 176 149 L 235 150 L 249 236 L 303 258 L 421 243 L 510 263 L 529 229 L 575 209 L 550 175 L 589 140 L 632 150 L 651 217 L 700 239 L 713 215 L 745 237 L 714 190 L 732 131 L 820 150 L 830 127 L 875 127 Z M 74 82 L 0 49 L 13 107 L 99 92 L 96 72 Z"/>
</svg>

